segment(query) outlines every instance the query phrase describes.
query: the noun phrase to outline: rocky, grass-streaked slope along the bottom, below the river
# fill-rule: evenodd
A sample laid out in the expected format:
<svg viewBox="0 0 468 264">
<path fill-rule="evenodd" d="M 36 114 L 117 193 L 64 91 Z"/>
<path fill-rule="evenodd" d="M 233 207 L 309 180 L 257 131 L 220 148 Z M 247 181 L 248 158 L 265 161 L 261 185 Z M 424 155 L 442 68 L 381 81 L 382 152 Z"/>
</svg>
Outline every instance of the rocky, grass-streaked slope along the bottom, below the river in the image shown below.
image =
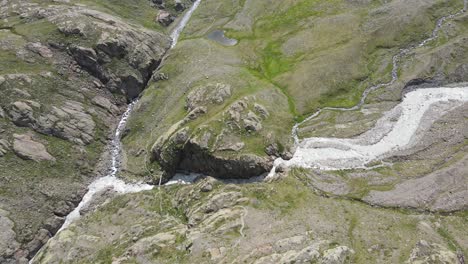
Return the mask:
<svg viewBox="0 0 468 264">
<path fill-rule="evenodd" d="M 463 256 L 457 249 L 466 249 L 466 213 L 421 214 L 321 197 L 301 174 L 244 185 L 206 178 L 108 199 L 59 233 L 36 260 L 457 263 Z"/>
</svg>

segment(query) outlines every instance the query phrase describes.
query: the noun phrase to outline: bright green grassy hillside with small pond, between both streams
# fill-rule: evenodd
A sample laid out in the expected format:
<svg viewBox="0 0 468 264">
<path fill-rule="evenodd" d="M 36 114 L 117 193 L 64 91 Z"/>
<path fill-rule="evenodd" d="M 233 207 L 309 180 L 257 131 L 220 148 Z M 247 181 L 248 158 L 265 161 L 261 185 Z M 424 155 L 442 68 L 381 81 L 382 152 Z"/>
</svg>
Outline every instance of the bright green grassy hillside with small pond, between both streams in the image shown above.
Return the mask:
<svg viewBox="0 0 468 264">
<path fill-rule="evenodd" d="M 367 87 L 389 81 L 393 55 L 430 36 L 436 21 L 462 4 L 203 1 L 159 70 L 168 79 L 150 83 L 132 118 L 133 129 L 124 140 L 127 169 L 147 176 L 151 168 L 158 171 L 159 161 L 148 167 L 155 159 L 153 144 L 159 139 L 166 142 L 163 149 L 169 148 L 171 136 L 184 127 L 191 139 L 206 135 L 209 128 L 217 139 L 206 150 L 217 157 L 255 154 L 268 159 L 270 146 L 281 149 L 276 155 L 288 155 L 296 121 L 319 107 L 353 106 Z M 207 39 L 216 29 L 238 44 L 228 47 Z M 231 87 L 229 99 L 209 106 L 196 120 L 174 126 L 188 116 L 191 92 L 217 84 Z M 401 89 L 404 83 L 398 85 Z M 265 107 L 269 115 L 261 121 L 262 129 L 246 131 L 242 120 L 237 128 L 226 125 L 232 123 L 229 111 L 239 101 Z M 220 144 L 243 148 L 223 150 Z M 142 151 L 146 155 L 136 155 Z"/>
</svg>

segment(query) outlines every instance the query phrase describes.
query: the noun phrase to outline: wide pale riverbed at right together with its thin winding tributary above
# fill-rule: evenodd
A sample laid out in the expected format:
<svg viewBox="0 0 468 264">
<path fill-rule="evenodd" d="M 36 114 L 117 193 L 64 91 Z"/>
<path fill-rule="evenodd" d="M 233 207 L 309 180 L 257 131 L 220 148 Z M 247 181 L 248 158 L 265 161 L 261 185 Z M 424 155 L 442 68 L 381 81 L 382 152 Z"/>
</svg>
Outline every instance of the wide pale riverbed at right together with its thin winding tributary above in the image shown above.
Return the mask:
<svg viewBox="0 0 468 264">
<path fill-rule="evenodd" d="M 408 148 L 415 140 L 415 134 L 421 125 L 424 114 L 434 106 L 442 107 L 444 112 L 460 106 L 468 101 L 468 87 L 447 88 L 438 87 L 421 89 L 407 93 L 403 102 L 385 113 L 376 126 L 363 135 L 352 139 L 340 138 L 304 138 L 299 139 L 299 128 L 308 121 L 317 118 L 324 111 L 356 111 L 365 103 L 369 94 L 377 89 L 388 87 L 398 80 L 399 63 L 401 59 L 416 48 L 426 46 L 435 40 L 445 23 L 462 14 L 465 10 L 440 18 L 431 35 L 393 56 L 391 80 L 368 87 L 362 94 L 358 104 L 350 108 L 325 107 L 317 110 L 304 121 L 297 123 L 292 129 L 292 137 L 296 144 L 296 152 L 291 160 L 278 158 L 269 174 L 272 177 L 278 166 L 315 168 L 321 170 L 342 170 L 369 168 L 369 163 L 379 161 L 393 153 Z M 429 122 L 435 121 L 435 116 Z M 393 121 L 397 120 L 397 121 Z"/>
</svg>

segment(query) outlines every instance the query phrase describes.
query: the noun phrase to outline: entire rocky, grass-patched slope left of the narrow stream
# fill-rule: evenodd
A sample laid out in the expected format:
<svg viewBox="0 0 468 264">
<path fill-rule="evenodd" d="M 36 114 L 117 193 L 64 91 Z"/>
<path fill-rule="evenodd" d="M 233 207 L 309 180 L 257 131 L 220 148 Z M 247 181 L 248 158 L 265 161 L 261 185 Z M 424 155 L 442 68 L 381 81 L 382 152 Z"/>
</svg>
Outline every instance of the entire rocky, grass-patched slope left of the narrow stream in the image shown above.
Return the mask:
<svg viewBox="0 0 468 264">
<path fill-rule="evenodd" d="M 112 2 L 0 1 L 1 263 L 32 257 L 106 172 L 119 115 L 171 43 L 157 15 L 190 4 L 140 1 L 148 21 Z"/>
</svg>

